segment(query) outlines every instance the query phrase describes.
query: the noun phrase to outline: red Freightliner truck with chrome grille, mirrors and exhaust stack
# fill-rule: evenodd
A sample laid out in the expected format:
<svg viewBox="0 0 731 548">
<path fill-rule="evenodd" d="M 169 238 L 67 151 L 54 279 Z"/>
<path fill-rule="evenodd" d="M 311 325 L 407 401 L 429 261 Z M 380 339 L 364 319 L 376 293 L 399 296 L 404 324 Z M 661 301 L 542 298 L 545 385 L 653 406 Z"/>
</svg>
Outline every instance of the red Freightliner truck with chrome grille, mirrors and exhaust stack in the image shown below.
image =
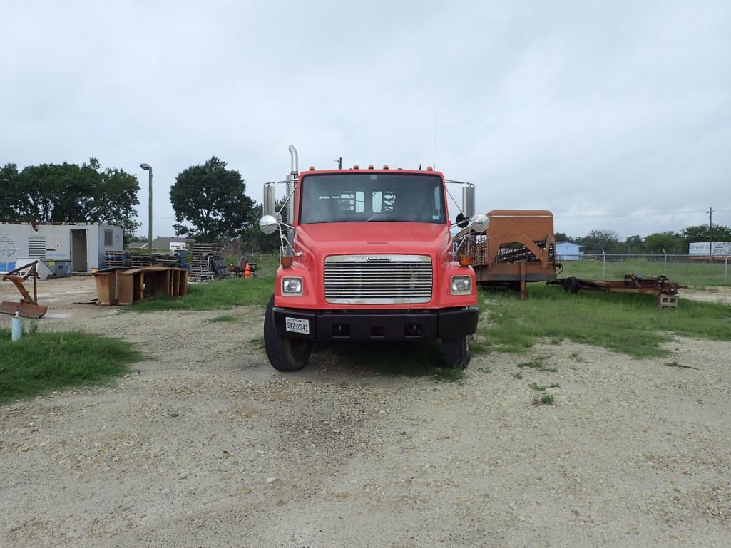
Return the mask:
<svg viewBox="0 0 731 548">
<path fill-rule="evenodd" d="M 440 339 L 444 364 L 466 367 L 477 286 L 469 254 L 454 251 L 452 181 L 431 167 L 298 172 L 289 152 L 284 205 L 276 211 L 276 183 L 266 183 L 260 221 L 262 232 L 279 230 L 282 252 L 264 321 L 271 365 L 303 368 L 315 341 Z M 471 216 L 474 186 L 458 184 L 458 226 L 484 232 L 488 218 Z"/>
</svg>

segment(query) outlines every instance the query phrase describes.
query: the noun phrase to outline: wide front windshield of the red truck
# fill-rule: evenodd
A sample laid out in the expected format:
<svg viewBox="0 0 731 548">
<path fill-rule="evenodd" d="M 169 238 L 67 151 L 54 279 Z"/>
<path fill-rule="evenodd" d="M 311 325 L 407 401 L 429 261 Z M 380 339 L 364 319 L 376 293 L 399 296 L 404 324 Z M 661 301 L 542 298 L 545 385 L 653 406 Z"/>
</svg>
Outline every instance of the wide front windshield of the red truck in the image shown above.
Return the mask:
<svg viewBox="0 0 731 548">
<path fill-rule="evenodd" d="M 447 222 L 442 178 L 436 175 L 308 175 L 300 191 L 300 224 Z"/>
</svg>

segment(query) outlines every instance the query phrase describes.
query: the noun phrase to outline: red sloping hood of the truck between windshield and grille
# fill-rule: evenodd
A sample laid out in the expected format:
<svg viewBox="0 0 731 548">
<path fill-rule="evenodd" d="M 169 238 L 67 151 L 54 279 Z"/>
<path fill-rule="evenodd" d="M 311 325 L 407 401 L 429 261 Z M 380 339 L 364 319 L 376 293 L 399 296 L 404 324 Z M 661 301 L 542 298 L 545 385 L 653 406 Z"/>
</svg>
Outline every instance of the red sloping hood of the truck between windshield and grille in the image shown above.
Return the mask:
<svg viewBox="0 0 731 548">
<path fill-rule="evenodd" d="M 436 258 L 450 246 L 450 231 L 436 223 L 301 224 L 295 243 L 319 259 L 328 255 L 409 254 Z M 296 246 L 295 246 L 296 247 Z"/>
</svg>

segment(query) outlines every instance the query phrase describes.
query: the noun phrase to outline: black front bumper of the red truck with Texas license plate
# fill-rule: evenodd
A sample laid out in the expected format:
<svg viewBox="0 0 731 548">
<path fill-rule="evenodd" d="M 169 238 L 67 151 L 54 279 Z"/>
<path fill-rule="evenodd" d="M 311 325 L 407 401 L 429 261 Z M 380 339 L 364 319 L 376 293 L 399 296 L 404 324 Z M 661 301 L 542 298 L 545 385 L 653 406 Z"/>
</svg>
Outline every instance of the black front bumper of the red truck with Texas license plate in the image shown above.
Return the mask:
<svg viewBox="0 0 731 548">
<path fill-rule="evenodd" d="M 434 340 L 477 331 L 477 307 L 440 311 L 319 312 L 274 307 L 284 337 L 319 340 Z"/>
</svg>

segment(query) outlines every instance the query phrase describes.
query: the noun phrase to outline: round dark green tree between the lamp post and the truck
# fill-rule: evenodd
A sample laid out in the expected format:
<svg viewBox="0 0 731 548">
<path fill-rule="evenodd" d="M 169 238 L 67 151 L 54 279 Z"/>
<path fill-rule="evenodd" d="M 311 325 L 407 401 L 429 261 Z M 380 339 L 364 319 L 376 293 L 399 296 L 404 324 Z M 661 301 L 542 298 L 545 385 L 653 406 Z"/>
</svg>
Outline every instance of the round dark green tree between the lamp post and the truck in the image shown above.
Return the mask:
<svg viewBox="0 0 731 548">
<path fill-rule="evenodd" d="M 241 174 L 227 170 L 226 162 L 216 156 L 178 173 L 170 203 L 175 210 L 175 234 L 200 241 L 238 237 L 259 221 Z"/>
</svg>

